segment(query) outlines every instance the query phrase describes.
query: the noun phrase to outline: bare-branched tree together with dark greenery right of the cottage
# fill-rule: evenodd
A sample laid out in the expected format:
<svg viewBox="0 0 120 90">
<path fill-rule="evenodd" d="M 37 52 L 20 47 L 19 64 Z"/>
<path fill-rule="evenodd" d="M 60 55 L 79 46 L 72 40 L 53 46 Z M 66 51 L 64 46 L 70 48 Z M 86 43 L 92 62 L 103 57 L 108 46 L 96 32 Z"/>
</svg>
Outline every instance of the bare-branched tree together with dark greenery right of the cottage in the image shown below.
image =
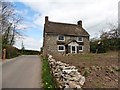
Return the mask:
<svg viewBox="0 0 120 90">
<path fill-rule="evenodd" d="M 103 53 L 110 50 L 120 50 L 120 38 L 117 24 L 108 24 L 109 31 L 102 31 L 100 37 L 92 38 L 90 41 L 90 51 L 95 53 Z M 98 42 L 101 42 L 98 45 Z"/>
</svg>

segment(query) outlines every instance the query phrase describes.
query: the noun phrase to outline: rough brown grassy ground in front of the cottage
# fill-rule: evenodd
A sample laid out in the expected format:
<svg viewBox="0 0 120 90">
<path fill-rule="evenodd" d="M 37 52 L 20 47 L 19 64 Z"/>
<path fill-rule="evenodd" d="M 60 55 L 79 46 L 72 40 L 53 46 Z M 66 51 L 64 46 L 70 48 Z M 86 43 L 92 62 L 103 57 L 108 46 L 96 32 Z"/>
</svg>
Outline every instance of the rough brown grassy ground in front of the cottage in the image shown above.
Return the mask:
<svg viewBox="0 0 120 90">
<path fill-rule="evenodd" d="M 102 54 L 53 55 L 54 59 L 75 65 L 86 77 L 84 88 L 118 87 L 118 52 Z"/>
</svg>

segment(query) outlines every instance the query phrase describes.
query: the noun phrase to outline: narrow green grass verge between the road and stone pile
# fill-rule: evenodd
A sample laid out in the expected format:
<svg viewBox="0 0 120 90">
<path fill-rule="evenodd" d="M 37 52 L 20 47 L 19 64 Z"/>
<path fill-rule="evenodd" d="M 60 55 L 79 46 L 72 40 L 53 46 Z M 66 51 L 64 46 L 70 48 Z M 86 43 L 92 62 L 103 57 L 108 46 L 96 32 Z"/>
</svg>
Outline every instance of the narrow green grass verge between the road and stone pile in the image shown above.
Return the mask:
<svg viewBox="0 0 120 90">
<path fill-rule="evenodd" d="M 54 90 L 56 85 L 55 82 L 53 80 L 53 76 L 52 73 L 50 72 L 50 67 L 49 67 L 49 63 L 48 63 L 48 59 L 42 59 L 42 81 L 43 81 L 43 88 L 45 90 Z"/>
</svg>

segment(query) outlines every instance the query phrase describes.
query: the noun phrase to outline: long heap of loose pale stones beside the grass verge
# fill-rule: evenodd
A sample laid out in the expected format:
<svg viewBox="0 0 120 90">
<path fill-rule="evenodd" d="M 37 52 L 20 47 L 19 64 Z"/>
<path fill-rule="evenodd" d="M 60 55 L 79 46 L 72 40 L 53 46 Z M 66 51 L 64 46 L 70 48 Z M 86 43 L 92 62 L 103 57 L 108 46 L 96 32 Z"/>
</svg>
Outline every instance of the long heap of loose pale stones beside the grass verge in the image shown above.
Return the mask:
<svg viewBox="0 0 120 90">
<path fill-rule="evenodd" d="M 59 88 L 81 88 L 85 83 L 82 76 L 75 66 L 56 61 L 51 55 L 48 57 L 49 65 Z"/>
</svg>

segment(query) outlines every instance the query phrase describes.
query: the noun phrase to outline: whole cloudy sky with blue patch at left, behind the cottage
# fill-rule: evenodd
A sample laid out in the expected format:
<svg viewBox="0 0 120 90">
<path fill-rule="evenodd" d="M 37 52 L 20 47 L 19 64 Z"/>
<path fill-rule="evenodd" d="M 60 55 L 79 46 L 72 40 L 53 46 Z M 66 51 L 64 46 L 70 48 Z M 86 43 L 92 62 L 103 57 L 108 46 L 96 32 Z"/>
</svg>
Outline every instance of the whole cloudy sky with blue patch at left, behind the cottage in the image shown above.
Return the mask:
<svg viewBox="0 0 120 90">
<path fill-rule="evenodd" d="M 15 47 L 40 50 L 43 44 L 45 16 L 50 21 L 77 24 L 82 20 L 83 28 L 90 38 L 99 37 L 101 31 L 117 25 L 119 0 L 9 0 L 24 21 L 19 27 L 25 28 L 23 38 L 17 38 Z"/>
</svg>

